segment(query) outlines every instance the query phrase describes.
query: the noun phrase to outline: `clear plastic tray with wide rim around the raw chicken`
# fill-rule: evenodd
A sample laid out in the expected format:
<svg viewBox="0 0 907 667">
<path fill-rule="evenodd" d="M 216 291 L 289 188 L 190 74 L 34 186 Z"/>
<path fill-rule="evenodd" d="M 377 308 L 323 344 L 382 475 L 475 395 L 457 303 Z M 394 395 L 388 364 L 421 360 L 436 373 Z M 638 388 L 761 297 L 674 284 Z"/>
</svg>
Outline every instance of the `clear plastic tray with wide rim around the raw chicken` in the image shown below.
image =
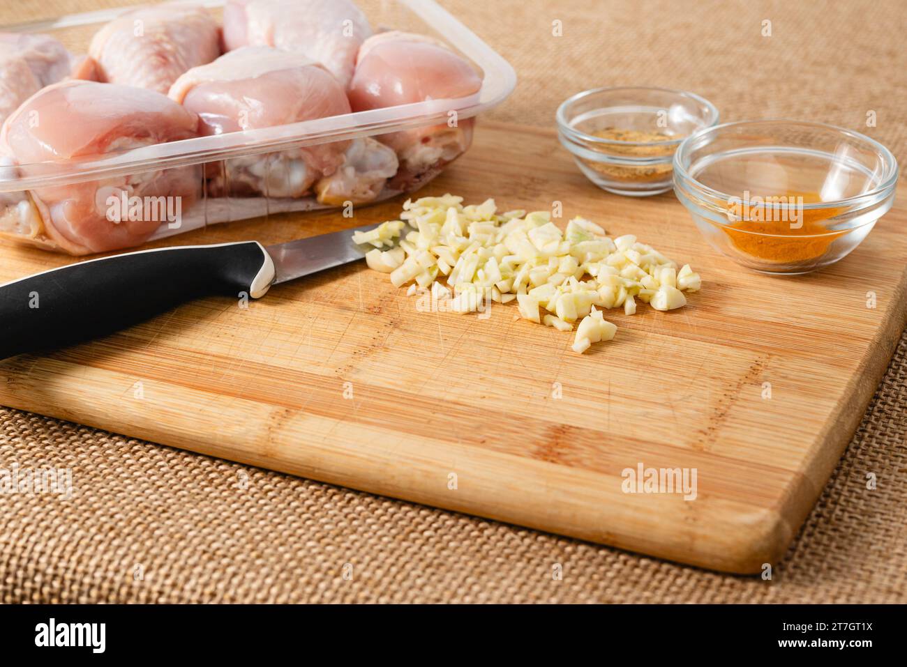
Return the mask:
<svg viewBox="0 0 907 667">
<path fill-rule="evenodd" d="M 229 160 L 441 125 L 449 120 L 451 111 L 456 112 L 458 121 L 463 121 L 499 104 L 512 92 L 516 75 L 511 65 L 433 0 L 355 0 L 355 2 L 366 14 L 375 33 L 391 29 L 429 35 L 462 55 L 482 75 L 483 82 L 479 92 L 463 98 L 418 102 L 258 130 L 154 144 L 106 153 L 96 159 L 79 160 L 77 163 L 58 160 L 19 164 L 17 169 L 0 169 L 0 209 L 8 211 L 9 206 L 16 205 L 17 198 L 24 198 L 28 191 L 36 189 L 118 179 L 161 169 L 194 167 L 200 170 L 200 174 L 206 174 L 210 172 L 212 165 L 215 165 L 215 169 L 224 169 Z M 221 8 L 225 3 L 224 0 L 188 0 L 183 4 L 206 7 L 220 20 Z M 70 14 L 44 22 L 5 25 L 0 26 L 0 31 L 49 34 L 60 40 L 70 52 L 79 55 L 87 51 L 88 43 L 102 24 L 135 8 L 136 6 L 127 6 L 85 14 Z M 385 187 L 381 194 L 369 203 L 418 189 L 427 180 L 434 178 L 434 175 L 436 174 L 427 174 L 425 179 L 421 179 L 411 188 Z M 267 217 L 271 214 L 316 208 L 336 207 L 323 205 L 314 197 L 214 197 L 205 188 L 200 197 L 190 204 L 188 210 L 181 211 L 179 224 L 162 221 L 161 226 L 145 240 L 169 237 L 230 220 Z M 4 210 L 0 210 L 0 217 L 3 213 Z M 0 223 L 0 237 L 57 251 L 84 254 L 59 247 L 41 235 L 36 236 L 34 228 L 15 228 L 10 227 L 8 223 L 4 227 Z"/>
</svg>

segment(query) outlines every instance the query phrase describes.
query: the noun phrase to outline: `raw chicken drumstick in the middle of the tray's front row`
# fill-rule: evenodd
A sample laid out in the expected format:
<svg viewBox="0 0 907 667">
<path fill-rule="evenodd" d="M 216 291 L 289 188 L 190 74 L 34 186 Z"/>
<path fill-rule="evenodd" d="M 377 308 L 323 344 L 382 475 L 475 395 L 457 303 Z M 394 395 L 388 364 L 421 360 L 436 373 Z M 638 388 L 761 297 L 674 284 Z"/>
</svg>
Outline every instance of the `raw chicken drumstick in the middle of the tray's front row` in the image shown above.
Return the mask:
<svg viewBox="0 0 907 667">
<path fill-rule="evenodd" d="M 199 115 L 203 134 L 349 113 L 345 92 L 321 65 L 300 53 L 268 46 L 244 46 L 191 69 L 173 84 L 170 97 Z M 355 202 L 366 201 L 394 175 L 396 158 L 374 140 L 334 141 L 233 158 L 210 165 L 208 192 L 212 197 L 300 198 L 342 165 L 346 166 L 341 175 L 326 181 L 322 189 L 330 190 L 332 198 L 344 196 L 341 201 L 354 197 Z"/>
</svg>

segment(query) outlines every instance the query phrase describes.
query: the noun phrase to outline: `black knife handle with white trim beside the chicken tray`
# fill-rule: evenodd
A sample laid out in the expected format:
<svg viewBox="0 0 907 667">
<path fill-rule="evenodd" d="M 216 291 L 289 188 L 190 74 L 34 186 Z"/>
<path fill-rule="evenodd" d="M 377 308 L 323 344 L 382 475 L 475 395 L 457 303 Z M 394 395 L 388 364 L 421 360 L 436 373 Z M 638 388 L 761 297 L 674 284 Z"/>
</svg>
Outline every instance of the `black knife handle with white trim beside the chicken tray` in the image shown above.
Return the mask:
<svg viewBox="0 0 907 667">
<path fill-rule="evenodd" d="M 0 359 L 118 331 L 202 296 L 257 299 L 274 262 L 257 241 L 90 259 L 0 285 Z"/>
</svg>

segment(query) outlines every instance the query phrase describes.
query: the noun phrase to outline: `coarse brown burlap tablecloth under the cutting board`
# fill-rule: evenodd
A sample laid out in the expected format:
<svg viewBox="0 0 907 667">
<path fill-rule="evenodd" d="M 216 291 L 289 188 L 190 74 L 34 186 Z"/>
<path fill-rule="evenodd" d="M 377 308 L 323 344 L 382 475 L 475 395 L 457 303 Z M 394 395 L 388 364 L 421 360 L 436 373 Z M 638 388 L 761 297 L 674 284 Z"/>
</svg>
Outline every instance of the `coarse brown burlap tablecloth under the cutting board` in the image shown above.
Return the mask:
<svg viewBox="0 0 907 667">
<path fill-rule="evenodd" d="M 581 89 L 661 85 L 701 93 L 725 120 L 832 122 L 905 158 L 902 0 L 443 2 L 517 69 L 517 92 L 497 119 L 551 126 L 558 102 Z M 0 22 L 111 4 L 20 0 L 0 8 Z M 762 35 L 766 20 L 771 36 Z M 868 111 L 877 127 L 866 127 Z M 0 409 L 0 465 L 72 468 L 77 479 L 68 500 L 0 497 L 0 599 L 905 602 L 905 435 L 907 336 L 766 582 Z M 562 581 L 551 578 L 555 563 Z"/>
</svg>

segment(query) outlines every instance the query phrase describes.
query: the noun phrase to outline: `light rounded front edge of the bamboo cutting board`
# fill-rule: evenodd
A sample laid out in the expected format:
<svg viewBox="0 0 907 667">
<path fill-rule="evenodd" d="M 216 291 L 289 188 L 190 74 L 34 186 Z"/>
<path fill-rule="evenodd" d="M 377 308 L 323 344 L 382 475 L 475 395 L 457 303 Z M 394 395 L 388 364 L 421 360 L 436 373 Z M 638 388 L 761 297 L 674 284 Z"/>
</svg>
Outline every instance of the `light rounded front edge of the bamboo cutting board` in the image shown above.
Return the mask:
<svg viewBox="0 0 907 667">
<path fill-rule="evenodd" d="M 785 518 L 785 512 L 780 509 L 754 510 L 742 503 L 723 500 L 710 507 L 704 517 L 697 517 L 696 530 L 675 534 L 675 530 L 663 531 L 660 527 L 665 523 L 682 526 L 688 522 L 689 505 L 671 496 L 647 497 L 655 507 L 626 504 L 619 492 L 619 478 L 600 473 L 546 461 L 527 464 L 520 457 L 451 440 L 433 442 L 410 438 L 395 442 L 394 449 L 387 449 L 388 440 L 399 438 L 399 434 L 392 431 L 375 432 L 375 447 L 367 456 L 361 449 L 341 454 L 344 440 L 325 440 L 313 449 L 311 436 L 316 431 L 311 423 L 303 417 L 297 426 L 291 411 L 257 401 L 231 405 L 232 410 L 242 411 L 246 428 L 229 430 L 224 429 L 223 414 L 219 410 L 210 413 L 199 410 L 199 406 L 214 405 L 221 398 L 216 394 L 204 396 L 202 391 L 143 380 L 143 409 L 118 412 L 115 406 L 122 404 L 124 397 L 132 391 L 135 375 L 93 369 L 53 357 L 31 356 L 6 362 L 5 371 L 8 374 L 0 395 L 5 403 L 14 402 L 11 407 L 19 410 L 711 569 L 758 572 L 763 564 L 776 562 L 798 526 Z M 20 398 L 10 401 L 16 394 Z M 56 401 L 63 395 L 67 401 L 65 406 Z M 53 407 L 48 409 L 47 405 Z M 171 426 L 185 420 L 185 405 L 196 407 L 193 411 L 195 430 Z M 317 426 L 320 427 L 317 432 L 329 433 L 337 425 L 320 423 Z M 294 447 L 294 439 L 306 441 L 307 446 Z M 262 453 L 255 455 L 251 444 L 259 445 Z M 338 455 L 344 457 L 342 463 L 337 462 Z M 328 459 L 334 460 L 328 462 Z M 434 459 L 455 461 L 451 472 L 456 472 L 460 487 L 453 495 L 446 489 L 446 478 L 438 477 Z M 513 465 L 517 463 L 519 466 Z M 425 480 L 431 478 L 434 478 L 434 484 L 426 486 Z M 502 494 L 505 488 L 509 494 Z M 598 495 L 590 491 L 596 488 Z M 539 489 L 546 489 L 547 493 L 540 496 Z M 490 510 L 489 496 L 511 498 L 511 501 Z M 802 500 L 800 494 L 795 496 Z M 536 502 L 527 504 L 527 497 L 535 497 Z M 587 498 L 587 501 L 580 502 L 579 498 Z M 812 502 L 814 498 L 810 506 Z M 555 507 L 556 511 L 549 508 L 548 513 L 540 514 L 541 507 Z M 614 519 L 616 508 L 620 510 L 618 520 Z M 706 541 L 699 530 L 705 522 L 710 541 Z"/>
</svg>

